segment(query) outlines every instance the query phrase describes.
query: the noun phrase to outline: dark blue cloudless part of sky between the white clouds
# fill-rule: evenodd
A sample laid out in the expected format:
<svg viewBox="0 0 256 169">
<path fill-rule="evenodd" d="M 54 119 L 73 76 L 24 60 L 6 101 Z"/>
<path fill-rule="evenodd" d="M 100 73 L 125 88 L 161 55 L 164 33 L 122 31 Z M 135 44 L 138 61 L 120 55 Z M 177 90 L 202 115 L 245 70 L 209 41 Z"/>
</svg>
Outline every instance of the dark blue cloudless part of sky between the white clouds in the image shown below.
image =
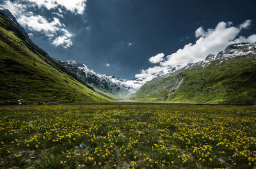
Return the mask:
<svg viewBox="0 0 256 169">
<path fill-rule="evenodd" d="M 98 73 L 132 79 L 142 69 L 154 66 L 149 57 L 172 54 L 195 43 L 195 30 L 200 26 L 214 29 L 221 21 L 237 26 L 250 19 L 250 29 L 239 35 L 256 33 L 255 6 L 255 0 L 88 0 L 82 15 L 67 11 L 60 18 L 75 34 L 71 47 L 56 47 L 35 33 L 31 39 L 55 59 L 75 60 Z M 42 9 L 34 12 L 52 15 Z"/>
</svg>

